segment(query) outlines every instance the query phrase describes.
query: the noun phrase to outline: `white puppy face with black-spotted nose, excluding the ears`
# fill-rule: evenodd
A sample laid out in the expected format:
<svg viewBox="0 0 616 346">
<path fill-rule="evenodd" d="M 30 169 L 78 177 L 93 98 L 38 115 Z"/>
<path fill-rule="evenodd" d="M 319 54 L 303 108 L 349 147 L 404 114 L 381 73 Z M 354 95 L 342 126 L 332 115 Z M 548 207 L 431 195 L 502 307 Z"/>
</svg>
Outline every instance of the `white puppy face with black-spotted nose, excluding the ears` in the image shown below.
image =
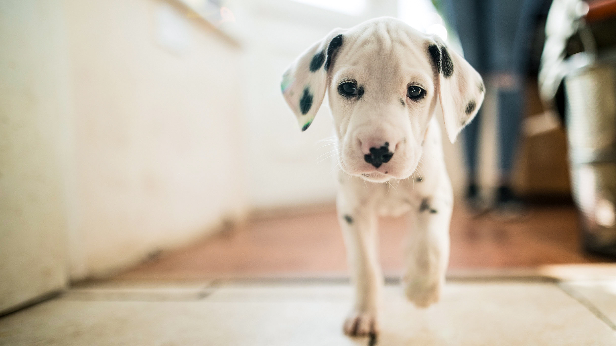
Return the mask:
<svg viewBox="0 0 616 346">
<path fill-rule="evenodd" d="M 330 66 L 338 162 L 368 181 L 403 179 L 415 171 L 436 106 L 438 76 L 421 49 L 425 39 L 409 37 L 405 29 L 354 29 Z"/>
</svg>

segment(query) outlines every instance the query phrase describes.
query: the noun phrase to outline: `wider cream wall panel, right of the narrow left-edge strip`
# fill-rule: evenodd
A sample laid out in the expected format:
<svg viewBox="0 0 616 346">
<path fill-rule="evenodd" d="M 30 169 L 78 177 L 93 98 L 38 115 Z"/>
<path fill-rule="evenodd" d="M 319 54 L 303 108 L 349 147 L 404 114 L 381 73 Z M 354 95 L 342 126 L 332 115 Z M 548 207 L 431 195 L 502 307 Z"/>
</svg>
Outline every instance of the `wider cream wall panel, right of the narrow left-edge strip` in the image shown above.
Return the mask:
<svg viewBox="0 0 616 346">
<path fill-rule="evenodd" d="M 71 275 L 105 275 L 245 213 L 237 45 L 169 1 L 65 1 Z"/>
</svg>

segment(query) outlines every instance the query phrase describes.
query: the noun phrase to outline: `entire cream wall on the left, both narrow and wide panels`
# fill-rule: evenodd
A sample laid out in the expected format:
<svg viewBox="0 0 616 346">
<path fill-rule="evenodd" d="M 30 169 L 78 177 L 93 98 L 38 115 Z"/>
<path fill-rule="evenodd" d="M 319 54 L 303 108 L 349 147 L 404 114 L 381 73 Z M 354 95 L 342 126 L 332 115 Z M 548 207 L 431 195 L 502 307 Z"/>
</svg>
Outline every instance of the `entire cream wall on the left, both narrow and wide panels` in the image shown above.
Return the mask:
<svg viewBox="0 0 616 346">
<path fill-rule="evenodd" d="M 172 1 L 1 15 L 1 302 L 5 283 L 104 277 L 243 218 L 237 42 Z"/>
</svg>

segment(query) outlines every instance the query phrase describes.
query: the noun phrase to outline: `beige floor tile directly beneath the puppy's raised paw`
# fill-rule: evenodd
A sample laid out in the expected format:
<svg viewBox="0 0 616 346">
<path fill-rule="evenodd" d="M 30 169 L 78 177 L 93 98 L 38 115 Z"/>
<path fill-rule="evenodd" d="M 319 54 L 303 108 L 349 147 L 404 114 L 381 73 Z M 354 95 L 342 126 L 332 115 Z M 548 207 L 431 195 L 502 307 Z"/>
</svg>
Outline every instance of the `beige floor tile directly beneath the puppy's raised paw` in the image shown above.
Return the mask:
<svg viewBox="0 0 616 346">
<path fill-rule="evenodd" d="M 383 345 L 616 345 L 616 334 L 551 283 L 450 284 L 426 310 L 387 294 Z"/>
</svg>

